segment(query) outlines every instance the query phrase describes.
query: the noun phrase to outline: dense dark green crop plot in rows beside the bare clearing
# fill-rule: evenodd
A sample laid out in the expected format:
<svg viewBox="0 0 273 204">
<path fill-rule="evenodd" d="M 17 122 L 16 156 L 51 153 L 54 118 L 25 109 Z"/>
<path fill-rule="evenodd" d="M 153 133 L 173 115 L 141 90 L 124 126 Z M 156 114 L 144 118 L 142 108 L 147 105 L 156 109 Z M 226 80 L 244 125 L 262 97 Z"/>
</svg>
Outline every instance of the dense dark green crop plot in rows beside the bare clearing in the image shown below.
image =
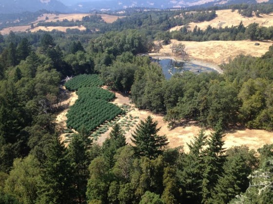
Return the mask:
<svg viewBox="0 0 273 204">
<path fill-rule="evenodd" d="M 91 132 L 101 124 L 111 123 L 118 115 L 125 113 L 123 109 L 110 102 L 115 98 L 115 94 L 98 87 L 101 85 L 103 82 L 98 75 L 87 74 L 78 75 L 65 83 L 68 90 L 76 90 L 78 94 L 78 100 L 70 107 L 66 115 L 68 128 L 78 131 L 85 127 Z M 100 130 L 99 133 L 107 130 Z M 67 135 L 67 137 L 66 141 L 70 136 Z"/>
</svg>

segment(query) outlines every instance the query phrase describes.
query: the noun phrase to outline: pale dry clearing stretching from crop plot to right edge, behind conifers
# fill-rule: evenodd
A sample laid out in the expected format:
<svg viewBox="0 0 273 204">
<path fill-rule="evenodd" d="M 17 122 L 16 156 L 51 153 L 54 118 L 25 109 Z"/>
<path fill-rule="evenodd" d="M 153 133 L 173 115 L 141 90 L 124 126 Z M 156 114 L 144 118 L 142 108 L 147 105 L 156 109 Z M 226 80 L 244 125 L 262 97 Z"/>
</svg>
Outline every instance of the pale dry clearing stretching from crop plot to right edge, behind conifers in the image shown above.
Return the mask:
<svg viewBox="0 0 273 204">
<path fill-rule="evenodd" d="M 118 105 L 122 104 L 130 104 L 130 100 L 128 97 L 121 95 L 120 93 L 116 93 L 117 99 L 114 103 Z M 133 104 L 130 104 L 133 105 Z M 134 105 L 133 105 L 134 106 Z M 158 127 L 161 127 L 159 131 L 159 135 L 166 135 L 169 139 L 169 147 L 179 147 L 184 146 L 185 151 L 188 151 L 187 143 L 189 143 L 194 136 L 196 136 L 200 130 L 200 127 L 196 126 L 194 123 L 189 123 L 185 126 L 179 126 L 174 129 L 169 129 L 168 124 L 163 121 L 162 115 L 156 115 L 148 110 L 139 110 L 138 108 L 134 108 L 132 111 L 128 112 L 126 115 L 132 115 L 133 117 L 138 116 L 139 119 L 146 119 L 149 115 L 151 115 L 154 120 L 158 121 Z M 139 120 L 140 121 L 140 120 Z M 126 133 L 126 141 L 131 143 L 131 135 L 135 130 L 136 126 L 131 128 L 129 132 Z M 102 144 L 103 141 L 109 136 L 111 128 L 108 132 L 103 134 L 98 138 L 98 143 Z M 211 130 L 206 130 L 206 134 L 210 134 Z M 240 146 L 246 145 L 250 149 L 258 149 L 262 147 L 264 144 L 273 143 L 273 133 L 265 130 L 234 130 L 230 131 L 224 137 L 225 140 L 225 148 L 230 148 L 232 146 Z"/>
</svg>

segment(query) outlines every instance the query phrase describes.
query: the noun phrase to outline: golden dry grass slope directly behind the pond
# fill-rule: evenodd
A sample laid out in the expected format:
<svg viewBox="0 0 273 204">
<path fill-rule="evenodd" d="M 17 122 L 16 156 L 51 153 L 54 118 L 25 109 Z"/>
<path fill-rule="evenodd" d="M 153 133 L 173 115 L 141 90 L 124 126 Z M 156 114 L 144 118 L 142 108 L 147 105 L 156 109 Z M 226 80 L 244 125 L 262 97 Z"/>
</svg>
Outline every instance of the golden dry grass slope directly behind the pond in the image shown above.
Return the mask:
<svg viewBox="0 0 273 204">
<path fill-rule="evenodd" d="M 209 63 L 216 65 L 227 63 L 229 59 L 234 59 L 239 54 L 260 57 L 268 51 L 269 47 L 272 45 L 272 42 L 270 41 L 259 42 L 250 40 L 206 42 L 172 40 L 172 43 L 173 42 L 185 44 L 186 51 L 189 53 L 190 57 L 197 61 L 205 61 L 205 64 L 203 65 L 207 65 L 207 67 L 210 66 Z M 260 45 L 255 46 L 255 42 L 260 43 Z M 158 54 L 154 53 L 152 55 L 166 56 L 166 58 L 174 56 L 170 47 L 171 44 L 163 46 L 163 49 L 161 49 Z"/>
</svg>

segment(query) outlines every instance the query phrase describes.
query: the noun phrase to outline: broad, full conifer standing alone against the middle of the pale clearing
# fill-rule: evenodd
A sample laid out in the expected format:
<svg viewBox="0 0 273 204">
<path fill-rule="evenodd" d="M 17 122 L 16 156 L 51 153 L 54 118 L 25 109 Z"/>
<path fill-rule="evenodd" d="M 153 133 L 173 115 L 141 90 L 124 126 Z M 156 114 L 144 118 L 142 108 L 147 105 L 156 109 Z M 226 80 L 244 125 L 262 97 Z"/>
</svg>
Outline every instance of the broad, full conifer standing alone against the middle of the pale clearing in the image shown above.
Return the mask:
<svg viewBox="0 0 273 204">
<path fill-rule="evenodd" d="M 157 135 L 160 128 L 156 126 L 157 121 L 153 122 L 151 116 L 148 116 L 145 121 L 141 120 L 137 125 L 136 131 L 132 134 L 132 142 L 135 144 L 133 148 L 137 156 L 156 158 L 163 152 L 162 148 L 168 145 L 166 136 Z"/>
</svg>

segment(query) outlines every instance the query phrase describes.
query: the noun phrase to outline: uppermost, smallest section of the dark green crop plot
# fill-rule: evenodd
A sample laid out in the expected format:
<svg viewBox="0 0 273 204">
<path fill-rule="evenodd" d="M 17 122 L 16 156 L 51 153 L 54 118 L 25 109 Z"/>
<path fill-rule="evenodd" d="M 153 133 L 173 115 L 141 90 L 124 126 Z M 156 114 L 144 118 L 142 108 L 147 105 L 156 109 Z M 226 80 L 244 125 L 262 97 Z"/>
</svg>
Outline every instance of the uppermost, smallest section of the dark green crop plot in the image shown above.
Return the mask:
<svg viewBox="0 0 273 204">
<path fill-rule="evenodd" d="M 78 90 L 82 87 L 102 86 L 103 82 L 99 79 L 97 74 L 87 75 L 82 74 L 74 77 L 65 83 L 65 87 L 70 91 Z"/>
</svg>

